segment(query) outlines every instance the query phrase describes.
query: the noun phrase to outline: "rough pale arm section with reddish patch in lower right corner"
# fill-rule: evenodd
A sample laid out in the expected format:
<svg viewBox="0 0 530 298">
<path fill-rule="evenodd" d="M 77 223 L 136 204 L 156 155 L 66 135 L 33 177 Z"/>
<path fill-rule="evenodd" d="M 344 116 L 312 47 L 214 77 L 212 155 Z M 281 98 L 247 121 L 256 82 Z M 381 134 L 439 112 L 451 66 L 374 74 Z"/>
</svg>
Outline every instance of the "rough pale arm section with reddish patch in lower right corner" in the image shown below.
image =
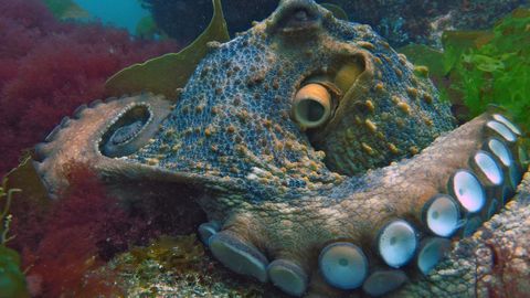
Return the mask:
<svg viewBox="0 0 530 298">
<path fill-rule="evenodd" d="M 390 297 L 524 297 L 530 287 L 529 203 L 527 173 L 501 214 L 451 247 L 435 269 L 414 276 Z"/>
</svg>

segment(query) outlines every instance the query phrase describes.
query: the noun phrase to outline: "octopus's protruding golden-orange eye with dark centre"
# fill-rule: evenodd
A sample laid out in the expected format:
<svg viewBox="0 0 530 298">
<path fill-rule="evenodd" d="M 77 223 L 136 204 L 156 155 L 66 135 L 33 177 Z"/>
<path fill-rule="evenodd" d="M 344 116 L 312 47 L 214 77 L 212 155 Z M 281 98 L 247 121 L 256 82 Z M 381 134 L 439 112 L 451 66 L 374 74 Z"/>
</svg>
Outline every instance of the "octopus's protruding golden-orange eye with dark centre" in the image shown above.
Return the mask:
<svg viewBox="0 0 530 298">
<path fill-rule="evenodd" d="M 316 83 L 301 87 L 293 102 L 293 119 L 303 128 L 316 128 L 331 117 L 331 95 L 328 89 Z"/>
</svg>

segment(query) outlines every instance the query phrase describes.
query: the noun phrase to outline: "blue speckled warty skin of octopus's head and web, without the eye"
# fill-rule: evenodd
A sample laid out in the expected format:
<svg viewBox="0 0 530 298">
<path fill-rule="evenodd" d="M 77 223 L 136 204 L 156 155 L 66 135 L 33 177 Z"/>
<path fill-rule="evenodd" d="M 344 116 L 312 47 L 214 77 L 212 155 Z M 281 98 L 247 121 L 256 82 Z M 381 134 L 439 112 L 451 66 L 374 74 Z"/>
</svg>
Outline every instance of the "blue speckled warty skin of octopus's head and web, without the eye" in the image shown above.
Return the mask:
<svg viewBox="0 0 530 298">
<path fill-rule="evenodd" d="M 410 157 L 454 128 L 449 107 L 438 102 L 432 84 L 415 76 L 369 26 L 337 20 L 309 3 L 314 28 L 284 32 L 296 6 L 284 3 L 264 22 L 212 49 L 153 142 L 131 159 L 230 177 L 250 190 L 251 200 L 271 200 L 282 188 L 299 195 L 308 184 L 332 185 L 340 180 L 333 171 L 357 174 Z M 332 75 L 356 57 L 363 60 L 364 73 L 341 91 L 332 119 L 301 131 L 289 116 L 300 84 L 315 74 Z M 377 131 L 365 127 L 367 120 Z M 253 168 L 274 179 L 246 179 Z"/>
</svg>

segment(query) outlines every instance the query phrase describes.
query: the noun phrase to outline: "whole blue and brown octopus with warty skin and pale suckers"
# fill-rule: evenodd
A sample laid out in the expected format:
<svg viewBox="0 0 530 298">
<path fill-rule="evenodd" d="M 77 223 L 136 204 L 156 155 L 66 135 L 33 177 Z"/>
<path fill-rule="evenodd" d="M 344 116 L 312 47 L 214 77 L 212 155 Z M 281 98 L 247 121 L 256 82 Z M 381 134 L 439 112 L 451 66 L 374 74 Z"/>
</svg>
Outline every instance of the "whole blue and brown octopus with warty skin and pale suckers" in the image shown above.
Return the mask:
<svg viewBox="0 0 530 298">
<path fill-rule="evenodd" d="M 457 127 L 370 26 L 284 0 L 176 98 L 80 107 L 34 167 L 52 198 L 77 162 L 125 205 L 197 204 L 220 263 L 292 296 L 486 297 L 530 287 L 522 137 L 495 107 Z"/>
</svg>

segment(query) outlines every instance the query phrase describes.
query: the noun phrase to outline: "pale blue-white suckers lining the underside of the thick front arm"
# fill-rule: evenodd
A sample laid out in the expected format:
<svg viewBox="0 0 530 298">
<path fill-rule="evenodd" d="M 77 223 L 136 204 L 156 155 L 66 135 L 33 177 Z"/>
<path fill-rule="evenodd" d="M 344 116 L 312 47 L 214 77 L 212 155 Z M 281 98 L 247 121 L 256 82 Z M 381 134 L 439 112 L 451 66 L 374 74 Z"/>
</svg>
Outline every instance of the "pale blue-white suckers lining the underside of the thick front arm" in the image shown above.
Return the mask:
<svg viewBox="0 0 530 298">
<path fill-rule="evenodd" d="M 526 157 L 518 143 L 521 131 L 505 116 L 494 114 L 486 121 L 483 136 L 484 145 L 469 158 L 468 167 L 457 169 L 447 181 L 446 192 L 433 195 L 423 205 L 423 226 L 392 219 L 375 234 L 375 247 L 363 249 L 347 241 L 326 245 L 318 257 L 324 280 L 340 290 L 362 289 L 373 297 L 385 295 L 409 279 L 407 272 L 428 275 L 451 249 L 452 236 L 470 236 L 499 212 L 522 179 Z M 218 222 L 209 222 L 199 227 L 199 234 L 225 266 L 262 283 L 271 280 L 293 296 L 307 291 L 307 270 L 296 260 L 280 258 L 268 263 L 257 247 L 220 230 Z M 372 262 L 373 251 L 378 258 Z"/>
</svg>

